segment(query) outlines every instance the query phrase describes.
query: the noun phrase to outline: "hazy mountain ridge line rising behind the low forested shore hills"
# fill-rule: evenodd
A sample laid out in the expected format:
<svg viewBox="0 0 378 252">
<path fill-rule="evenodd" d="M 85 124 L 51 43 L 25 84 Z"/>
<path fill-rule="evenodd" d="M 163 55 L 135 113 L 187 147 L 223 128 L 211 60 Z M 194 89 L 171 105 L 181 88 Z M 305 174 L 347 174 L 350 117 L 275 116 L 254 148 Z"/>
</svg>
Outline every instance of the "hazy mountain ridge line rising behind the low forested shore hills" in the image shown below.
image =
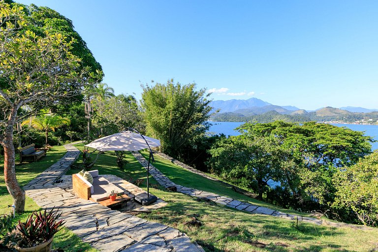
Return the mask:
<svg viewBox="0 0 378 252">
<path fill-rule="evenodd" d="M 214 100 L 210 102 L 210 106 L 213 107 L 213 110 L 211 112 L 215 112 L 219 110 L 219 113 L 227 113 L 232 112 L 235 114 L 243 115 L 243 116 L 252 116 L 252 115 L 260 115 L 264 114 L 269 111 L 276 111 L 279 114 L 282 115 L 303 115 L 308 112 L 312 111 L 306 111 L 304 109 L 297 108 L 295 106 L 278 106 L 273 105 L 272 103 L 263 101 L 261 99 L 252 97 L 247 100 L 238 100 L 238 99 L 232 99 L 232 100 Z M 331 107 L 326 107 L 331 108 Z M 322 110 L 323 108 L 315 110 L 316 115 L 318 114 L 317 111 Z M 376 112 L 378 109 L 367 109 L 362 107 L 341 107 L 341 108 L 332 108 L 336 109 L 337 111 L 330 112 L 328 109 L 327 111 L 329 115 L 327 116 L 334 116 L 334 115 L 342 115 L 342 114 L 348 114 L 348 112 L 352 113 L 371 113 Z M 320 113 L 322 114 L 322 113 Z M 331 115 L 332 114 L 332 115 Z"/>
</svg>

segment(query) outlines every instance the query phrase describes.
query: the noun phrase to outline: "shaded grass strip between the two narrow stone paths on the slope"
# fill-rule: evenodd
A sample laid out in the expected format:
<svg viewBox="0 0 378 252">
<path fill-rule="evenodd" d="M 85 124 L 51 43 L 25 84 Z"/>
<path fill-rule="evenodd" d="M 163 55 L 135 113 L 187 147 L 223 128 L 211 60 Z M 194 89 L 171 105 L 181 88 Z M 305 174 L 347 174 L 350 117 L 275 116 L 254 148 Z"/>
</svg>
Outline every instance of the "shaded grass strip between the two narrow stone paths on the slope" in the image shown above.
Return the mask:
<svg viewBox="0 0 378 252">
<path fill-rule="evenodd" d="M 145 158 L 148 158 L 148 152 L 142 152 L 142 155 Z M 254 205 L 263 206 L 263 207 L 271 208 L 274 210 L 279 210 L 288 214 L 309 216 L 309 214 L 307 213 L 301 213 L 295 210 L 284 209 L 282 207 L 275 206 L 267 202 L 263 202 L 255 198 L 249 197 L 247 195 L 238 193 L 234 191 L 232 187 L 229 185 L 223 184 L 218 181 L 210 180 L 198 174 L 192 173 L 172 163 L 171 161 L 165 158 L 161 158 L 158 155 L 155 155 L 154 157 L 155 157 L 155 163 L 153 163 L 153 165 L 156 168 L 158 168 L 158 170 L 161 171 L 165 176 L 167 176 L 171 181 L 173 181 L 174 183 L 178 185 L 213 192 L 213 193 L 228 196 L 230 198 L 237 199 L 240 201 L 249 202 Z"/>
</svg>

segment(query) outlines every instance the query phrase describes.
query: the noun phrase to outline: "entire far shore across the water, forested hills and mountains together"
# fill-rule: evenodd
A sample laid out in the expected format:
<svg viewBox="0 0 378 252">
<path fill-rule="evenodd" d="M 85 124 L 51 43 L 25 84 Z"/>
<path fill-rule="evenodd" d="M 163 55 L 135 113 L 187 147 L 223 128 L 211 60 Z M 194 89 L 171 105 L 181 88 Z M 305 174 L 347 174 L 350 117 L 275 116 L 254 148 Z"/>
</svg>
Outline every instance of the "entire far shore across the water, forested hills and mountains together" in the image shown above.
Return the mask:
<svg viewBox="0 0 378 252">
<path fill-rule="evenodd" d="M 308 112 L 294 106 L 277 106 L 257 98 L 248 100 L 212 101 L 219 110 L 211 117 L 214 122 L 258 122 L 270 123 L 277 120 L 287 122 L 322 122 L 335 124 L 378 125 L 378 110 L 361 107 L 325 107 Z"/>
</svg>

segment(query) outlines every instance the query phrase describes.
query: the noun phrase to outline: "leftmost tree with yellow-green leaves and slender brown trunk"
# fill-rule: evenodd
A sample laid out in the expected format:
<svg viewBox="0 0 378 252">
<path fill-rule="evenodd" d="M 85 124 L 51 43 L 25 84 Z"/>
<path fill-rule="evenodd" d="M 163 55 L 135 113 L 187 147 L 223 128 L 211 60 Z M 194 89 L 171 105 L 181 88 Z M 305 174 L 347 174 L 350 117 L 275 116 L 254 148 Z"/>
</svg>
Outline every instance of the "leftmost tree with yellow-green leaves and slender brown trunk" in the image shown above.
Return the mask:
<svg viewBox="0 0 378 252">
<path fill-rule="evenodd" d="M 91 66 L 72 53 L 77 52 L 74 45 L 79 46 L 75 38 L 44 29 L 45 22 L 38 24 L 32 17 L 32 8 L 0 1 L 0 9 L 0 107 L 3 112 L 0 142 L 4 148 L 4 180 L 16 211 L 23 212 L 25 191 L 16 179 L 14 125 L 38 114 L 40 108 L 79 95 L 83 86 L 101 79 L 102 72 L 96 69 L 97 74 L 94 74 Z M 25 106 L 29 108 L 27 112 L 21 111 Z"/>
</svg>

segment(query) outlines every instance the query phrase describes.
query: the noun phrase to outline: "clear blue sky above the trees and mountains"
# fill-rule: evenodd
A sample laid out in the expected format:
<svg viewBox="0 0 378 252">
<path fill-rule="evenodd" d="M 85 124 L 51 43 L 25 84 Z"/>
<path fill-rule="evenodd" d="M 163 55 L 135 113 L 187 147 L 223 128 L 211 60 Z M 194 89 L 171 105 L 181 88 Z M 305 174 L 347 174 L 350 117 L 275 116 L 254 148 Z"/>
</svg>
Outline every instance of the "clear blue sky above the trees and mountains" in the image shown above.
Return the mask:
<svg viewBox="0 0 378 252">
<path fill-rule="evenodd" d="M 378 108 L 377 0 L 22 0 L 73 21 L 116 94 L 195 82 L 214 99 Z"/>
</svg>

